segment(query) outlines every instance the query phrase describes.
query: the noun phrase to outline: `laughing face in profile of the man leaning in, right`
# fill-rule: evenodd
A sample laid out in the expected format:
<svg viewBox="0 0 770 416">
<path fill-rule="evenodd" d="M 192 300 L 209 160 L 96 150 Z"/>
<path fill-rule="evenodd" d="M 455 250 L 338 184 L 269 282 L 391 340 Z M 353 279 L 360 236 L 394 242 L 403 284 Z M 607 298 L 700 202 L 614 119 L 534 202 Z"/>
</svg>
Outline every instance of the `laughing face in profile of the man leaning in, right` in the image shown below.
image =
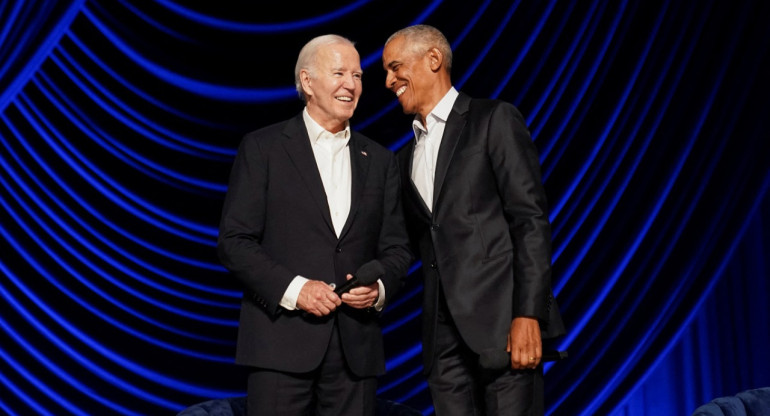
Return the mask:
<svg viewBox="0 0 770 416">
<path fill-rule="evenodd" d="M 405 36 L 393 38 L 382 51 L 385 87 L 396 94 L 404 113 L 419 114 L 423 122 L 451 87 L 436 52 L 410 45 Z"/>
</svg>

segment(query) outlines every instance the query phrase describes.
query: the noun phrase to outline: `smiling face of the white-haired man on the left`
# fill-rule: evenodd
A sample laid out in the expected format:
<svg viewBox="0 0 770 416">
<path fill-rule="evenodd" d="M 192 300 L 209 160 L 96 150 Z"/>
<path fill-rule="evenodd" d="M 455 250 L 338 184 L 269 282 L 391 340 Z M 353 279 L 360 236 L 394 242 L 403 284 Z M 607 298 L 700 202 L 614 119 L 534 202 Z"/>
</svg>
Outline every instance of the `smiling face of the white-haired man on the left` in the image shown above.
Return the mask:
<svg viewBox="0 0 770 416">
<path fill-rule="evenodd" d="M 355 47 L 344 43 L 320 46 L 312 68 L 300 71 L 310 117 L 332 133 L 344 129 L 363 91 L 361 76 Z"/>
</svg>

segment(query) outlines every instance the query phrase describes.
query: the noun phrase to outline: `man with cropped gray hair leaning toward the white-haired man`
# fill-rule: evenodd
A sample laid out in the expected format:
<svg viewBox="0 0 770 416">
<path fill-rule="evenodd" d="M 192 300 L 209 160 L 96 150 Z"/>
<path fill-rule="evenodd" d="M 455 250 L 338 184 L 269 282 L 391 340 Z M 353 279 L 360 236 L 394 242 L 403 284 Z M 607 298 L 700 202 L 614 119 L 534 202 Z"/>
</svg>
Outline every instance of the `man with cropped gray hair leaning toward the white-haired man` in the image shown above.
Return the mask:
<svg viewBox="0 0 770 416">
<path fill-rule="evenodd" d="M 457 91 L 449 42 L 432 26 L 394 33 L 382 63 L 385 86 L 415 116 L 415 140 L 397 157 L 425 278 L 423 364 L 436 414 L 541 415 L 542 340 L 564 324 L 524 118 Z"/>
</svg>

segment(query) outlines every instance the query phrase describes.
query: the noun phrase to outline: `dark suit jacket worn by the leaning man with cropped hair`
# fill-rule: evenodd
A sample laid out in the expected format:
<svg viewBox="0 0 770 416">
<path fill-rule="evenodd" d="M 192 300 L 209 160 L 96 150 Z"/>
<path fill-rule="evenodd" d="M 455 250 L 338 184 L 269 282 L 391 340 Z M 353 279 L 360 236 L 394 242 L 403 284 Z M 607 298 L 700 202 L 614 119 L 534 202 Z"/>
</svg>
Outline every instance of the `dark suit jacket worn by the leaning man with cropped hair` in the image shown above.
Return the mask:
<svg viewBox="0 0 770 416">
<path fill-rule="evenodd" d="M 564 333 L 551 292 L 551 241 L 537 152 L 519 111 L 460 93 L 439 147 L 432 214 L 411 180 L 414 142 L 398 154 L 404 210 L 425 276 L 423 357 L 430 369 L 439 281 L 463 340 L 505 349 L 511 320 Z"/>
</svg>

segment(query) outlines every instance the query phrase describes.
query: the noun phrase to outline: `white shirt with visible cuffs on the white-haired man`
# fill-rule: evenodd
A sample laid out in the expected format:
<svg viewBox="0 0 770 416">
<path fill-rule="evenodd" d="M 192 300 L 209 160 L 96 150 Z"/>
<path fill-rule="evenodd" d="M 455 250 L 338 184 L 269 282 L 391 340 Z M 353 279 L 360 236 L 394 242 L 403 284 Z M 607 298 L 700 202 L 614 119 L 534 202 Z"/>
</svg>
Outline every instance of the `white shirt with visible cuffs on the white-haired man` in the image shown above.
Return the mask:
<svg viewBox="0 0 770 416">
<path fill-rule="evenodd" d="M 318 173 L 321 175 L 321 181 L 326 192 L 334 232 L 339 237 L 350 213 L 352 192 L 350 149 L 348 147 L 350 123 L 346 123 L 344 130 L 331 133 L 310 117 L 307 107 L 302 111 L 302 118 L 305 121 L 305 128 L 307 128 L 310 145 L 313 148 Z M 299 297 L 302 286 L 308 280 L 303 276 L 296 276 L 286 289 L 280 302 L 281 306 L 289 310 L 297 309 L 297 297 Z M 380 280 L 377 282 L 380 287 L 380 296 L 374 307 L 381 310 L 385 305 L 385 286 Z"/>
</svg>

